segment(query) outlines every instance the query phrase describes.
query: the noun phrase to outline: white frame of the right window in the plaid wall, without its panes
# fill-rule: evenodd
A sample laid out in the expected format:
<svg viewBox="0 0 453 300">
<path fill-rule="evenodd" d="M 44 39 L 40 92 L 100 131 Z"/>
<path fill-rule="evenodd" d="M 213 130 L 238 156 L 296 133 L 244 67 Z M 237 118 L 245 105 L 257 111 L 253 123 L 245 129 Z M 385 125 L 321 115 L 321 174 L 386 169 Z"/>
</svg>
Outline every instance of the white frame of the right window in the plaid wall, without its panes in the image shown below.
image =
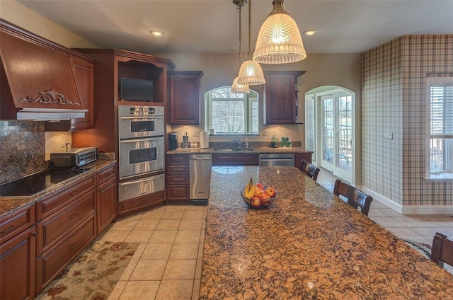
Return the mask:
<svg viewBox="0 0 453 300">
<path fill-rule="evenodd" d="M 453 86 L 453 77 L 428 77 L 426 79 L 426 148 L 425 148 L 425 180 L 428 181 L 453 181 L 453 134 L 432 134 L 431 133 L 431 88 L 432 86 Z M 448 110 L 453 110 L 453 105 L 447 107 Z M 452 111 L 448 112 L 453 115 Z M 444 116 L 443 118 L 445 119 Z M 450 121 L 452 122 L 452 121 Z M 432 139 L 440 139 L 444 142 L 443 163 L 444 170 L 432 171 L 431 165 L 431 141 Z"/>
</svg>

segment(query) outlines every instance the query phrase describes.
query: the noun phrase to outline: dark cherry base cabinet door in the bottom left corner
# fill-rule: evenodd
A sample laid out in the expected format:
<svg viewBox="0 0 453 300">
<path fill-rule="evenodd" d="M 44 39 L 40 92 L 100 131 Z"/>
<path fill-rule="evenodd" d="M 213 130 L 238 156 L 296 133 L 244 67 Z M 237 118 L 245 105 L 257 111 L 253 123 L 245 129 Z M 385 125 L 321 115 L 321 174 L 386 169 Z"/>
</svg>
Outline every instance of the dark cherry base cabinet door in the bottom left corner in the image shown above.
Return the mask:
<svg viewBox="0 0 453 300">
<path fill-rule="evenodd" d="M 35 299 L 36 226 L 0 245 L 0 299 Z"/>
</svg>

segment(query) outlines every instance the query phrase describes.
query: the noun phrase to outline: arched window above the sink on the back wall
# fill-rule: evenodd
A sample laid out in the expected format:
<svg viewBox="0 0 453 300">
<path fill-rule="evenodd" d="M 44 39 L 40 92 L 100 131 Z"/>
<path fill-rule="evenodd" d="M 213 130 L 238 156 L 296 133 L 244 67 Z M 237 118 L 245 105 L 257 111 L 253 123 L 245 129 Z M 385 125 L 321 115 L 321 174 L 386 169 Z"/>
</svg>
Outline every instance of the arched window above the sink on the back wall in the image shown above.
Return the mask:
<svg viewBox="0 0 453 300">
<path fill-rule="evenodd" d="M 231 93 L 222 86 L 205 93 L 207 127 L 215 134 L 258 134 L 258 93 Z"/>
</svg>

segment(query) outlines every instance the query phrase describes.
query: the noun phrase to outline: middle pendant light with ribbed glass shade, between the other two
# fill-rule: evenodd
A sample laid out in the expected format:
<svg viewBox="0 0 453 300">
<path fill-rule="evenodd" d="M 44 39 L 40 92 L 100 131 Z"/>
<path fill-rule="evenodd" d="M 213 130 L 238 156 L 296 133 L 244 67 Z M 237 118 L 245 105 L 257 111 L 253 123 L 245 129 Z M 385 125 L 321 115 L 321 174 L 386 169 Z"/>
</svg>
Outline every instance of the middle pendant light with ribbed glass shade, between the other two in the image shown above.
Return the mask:
<svg viewBox="0 0 453 300">
<path fill-rule="evenodd" d="M 252 0 L 248 1 L 248 56 L 251 57 L 253 52 L 251 50 L 251 19 L 252 19 Z M 239 70 L 238 83 L 248 84 L 248 86 L 256 86 L 258 84 L 264 84 L 263 69 L 260 64 L 255 62 L 253 59 L 246 60 L 242 63 L 241 69 Z"/>
</svg>

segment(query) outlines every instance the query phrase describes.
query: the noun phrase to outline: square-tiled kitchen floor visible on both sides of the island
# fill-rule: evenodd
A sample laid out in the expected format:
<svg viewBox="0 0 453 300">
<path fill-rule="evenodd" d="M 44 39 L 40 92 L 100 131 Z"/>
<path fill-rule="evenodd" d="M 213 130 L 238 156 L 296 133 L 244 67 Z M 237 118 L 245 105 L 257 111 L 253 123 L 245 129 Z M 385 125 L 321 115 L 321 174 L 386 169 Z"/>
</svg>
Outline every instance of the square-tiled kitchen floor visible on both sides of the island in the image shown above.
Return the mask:
<svg viewBox="0 0 453 300">
<path fill-rule="evenodd" d="M 321 170 L 318 183 L 333 190 L 336 178 Z M 109 300 L 197 299 L 207 207 L 167 206 L 110 224 L 98 239 L 140 243 Z M 453 236 L 448 215 L 403 216 L 374 200 L 369 218 L 400 238 Z"/>
</svg>

